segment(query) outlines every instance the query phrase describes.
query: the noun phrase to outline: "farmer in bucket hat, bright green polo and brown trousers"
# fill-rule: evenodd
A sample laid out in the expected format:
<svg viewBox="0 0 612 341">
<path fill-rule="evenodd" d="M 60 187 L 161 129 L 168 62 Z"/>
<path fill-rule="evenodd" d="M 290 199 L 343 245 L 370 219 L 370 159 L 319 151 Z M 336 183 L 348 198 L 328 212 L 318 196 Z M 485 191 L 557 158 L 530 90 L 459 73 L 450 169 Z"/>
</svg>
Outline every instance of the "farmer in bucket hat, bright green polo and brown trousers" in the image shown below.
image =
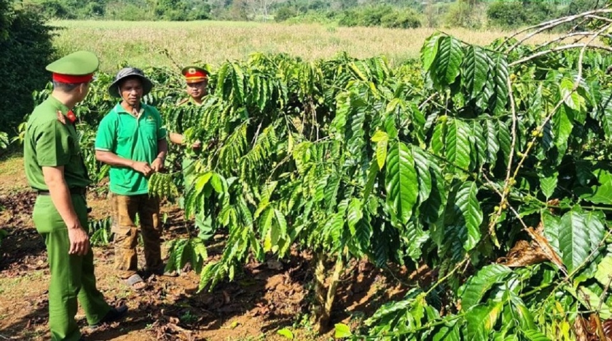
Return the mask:
<svg viewBox="0 0 612 341">
<path fill-rule="evenodd" d="M 97 160 L 110 164 L 110 205 L 113 215 L 115 267 L 136 290 L 146 286 L 137 273 L 136 213 L 143 234 L 147 270 L 164 273 L 160 251 L 162 224 L 159 199 L 149 196 L 149 175 L 162 170 L 168 152 L 166 130 L 157 109 L 141 103 L 152 82 L 138 68 L 122 68 L 108 93 L 121 102 L 100 122 L 95 139 Z"/>
</svg>

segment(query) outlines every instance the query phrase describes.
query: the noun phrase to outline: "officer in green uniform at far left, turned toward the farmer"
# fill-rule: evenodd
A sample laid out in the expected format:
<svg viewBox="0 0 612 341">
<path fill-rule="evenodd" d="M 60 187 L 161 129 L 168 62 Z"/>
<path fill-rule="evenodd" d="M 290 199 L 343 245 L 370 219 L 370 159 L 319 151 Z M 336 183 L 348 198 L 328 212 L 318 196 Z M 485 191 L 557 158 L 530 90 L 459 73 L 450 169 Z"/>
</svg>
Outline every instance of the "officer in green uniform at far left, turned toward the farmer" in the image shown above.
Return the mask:
<svg viewBox="0 0 612 341">
<path fill-rule="evenodd" d="M 91 326 L 117 320 L 127 307 L 110 307 L 96 288 L 89 245 L 85 191 L 91 183 L 83 163 L 72 108 L 89 92 L 99 60 L 78 51 L 47 65 L 53 92 L 34 109 L 24 141 L 29 185 L 38 191 L 34 226 L 45 240 L 51 280 L 51 340 L 83 340 L 75 321 L 77 299 Z"/>
</svg>

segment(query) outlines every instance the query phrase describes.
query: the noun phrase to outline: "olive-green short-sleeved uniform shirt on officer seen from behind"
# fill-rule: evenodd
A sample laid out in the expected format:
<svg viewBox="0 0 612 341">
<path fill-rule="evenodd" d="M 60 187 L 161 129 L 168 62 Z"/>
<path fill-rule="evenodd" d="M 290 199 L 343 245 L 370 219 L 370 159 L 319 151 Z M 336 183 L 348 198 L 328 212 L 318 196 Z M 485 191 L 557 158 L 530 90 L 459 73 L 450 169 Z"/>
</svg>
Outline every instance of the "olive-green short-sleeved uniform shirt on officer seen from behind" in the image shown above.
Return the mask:
<svg viewBox="0 0 612 341">
<path fill-rule="evenodd" d="M 28 119 L 23 144 L 23 164 L 32 188 L 48 190 L 42 167 L 64 166 L 64 178 L 69 188 L 84 188 L 91 183 L 78 145 L 78 134 L 70 120 L 63 117 L 69 111 L 54 97 L 40 103 Z"/>
</svg>

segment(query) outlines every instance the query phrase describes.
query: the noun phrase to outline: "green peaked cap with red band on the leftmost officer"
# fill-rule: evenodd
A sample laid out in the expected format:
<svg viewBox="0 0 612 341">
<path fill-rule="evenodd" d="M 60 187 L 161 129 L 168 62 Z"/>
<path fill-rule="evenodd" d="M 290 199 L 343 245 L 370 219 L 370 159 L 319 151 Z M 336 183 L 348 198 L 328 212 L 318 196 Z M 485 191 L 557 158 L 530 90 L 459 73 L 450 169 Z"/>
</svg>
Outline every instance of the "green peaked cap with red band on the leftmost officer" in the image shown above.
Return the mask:
<svg viewBox="0 0 612 341">
<path fill-rule="evenodd" d="M 89 51 L 76 51 L 47 65 L 53 80 L 63 83 L 89 82 L 98 70 L 100 61 Z"/>
</svg>

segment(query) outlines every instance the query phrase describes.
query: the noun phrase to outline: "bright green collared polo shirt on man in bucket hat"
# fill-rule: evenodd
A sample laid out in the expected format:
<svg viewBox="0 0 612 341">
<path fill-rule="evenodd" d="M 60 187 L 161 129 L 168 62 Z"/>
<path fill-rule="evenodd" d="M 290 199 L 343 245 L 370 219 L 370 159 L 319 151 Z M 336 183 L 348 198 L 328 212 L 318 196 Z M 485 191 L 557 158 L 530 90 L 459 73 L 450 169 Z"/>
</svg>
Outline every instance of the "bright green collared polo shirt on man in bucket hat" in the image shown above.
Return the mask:
<svg viewBox="0 0 612 341">
<path fill-rule="evenodd" d="M 166 138 L 162 117 L 157 109 L 141 105 L 142 113 L 136 119 L 116 105 L 100 121 L 95 137 L 95 149 L 113 152 L 122 158 L 151 164 L 157 157 L 157 141 Z M 110 190 L 122 196 L 148 193 L 147 178 L 129 167 L 111 166 Z"/>
</svg>

